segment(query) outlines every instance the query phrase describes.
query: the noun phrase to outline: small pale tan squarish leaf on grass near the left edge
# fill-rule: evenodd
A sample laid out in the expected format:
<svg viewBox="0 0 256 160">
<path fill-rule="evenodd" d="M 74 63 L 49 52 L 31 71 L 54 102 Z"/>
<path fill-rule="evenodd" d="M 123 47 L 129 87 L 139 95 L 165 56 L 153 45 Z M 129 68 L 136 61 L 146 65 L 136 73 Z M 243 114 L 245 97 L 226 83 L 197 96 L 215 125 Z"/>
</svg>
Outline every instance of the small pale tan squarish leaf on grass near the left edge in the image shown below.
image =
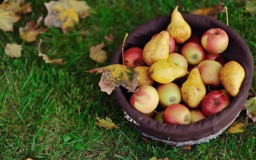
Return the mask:
<svg viewBox="0 0 256 160">
<path fill-rule="evenodd" d="M 5 47 L 5 53 L 11 58 L 19 58 L 21 57 L 22 47 L 17 44 L 8 43 Z"/>
</svg>

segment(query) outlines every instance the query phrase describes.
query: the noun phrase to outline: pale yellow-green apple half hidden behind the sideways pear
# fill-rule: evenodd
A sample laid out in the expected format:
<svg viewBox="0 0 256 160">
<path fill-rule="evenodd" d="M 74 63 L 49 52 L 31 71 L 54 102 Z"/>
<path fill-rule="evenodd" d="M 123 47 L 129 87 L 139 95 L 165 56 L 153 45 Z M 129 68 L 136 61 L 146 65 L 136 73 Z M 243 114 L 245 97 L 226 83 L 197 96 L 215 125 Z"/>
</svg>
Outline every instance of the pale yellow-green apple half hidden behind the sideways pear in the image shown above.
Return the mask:
<svg viewBox="0 0 256 160">
<path fill-rule="evenodd" d="M 180 66 L 180 67 L 184 68 L 185 70 L 188 69 L 187 60 L 182 55 L 180 55 L 178 53 L 169 54 L 169 57 L 168 57 L 167 60 L 176 64 L 177 66 Z"/>
</svg>

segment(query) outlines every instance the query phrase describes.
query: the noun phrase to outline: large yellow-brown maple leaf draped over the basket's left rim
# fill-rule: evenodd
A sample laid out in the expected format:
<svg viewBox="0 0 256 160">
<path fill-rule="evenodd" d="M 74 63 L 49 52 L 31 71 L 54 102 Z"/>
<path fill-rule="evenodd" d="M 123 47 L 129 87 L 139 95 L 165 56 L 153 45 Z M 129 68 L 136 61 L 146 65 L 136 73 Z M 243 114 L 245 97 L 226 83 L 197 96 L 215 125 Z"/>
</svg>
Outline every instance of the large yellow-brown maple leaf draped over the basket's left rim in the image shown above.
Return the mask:
<svg viewBox="0 0 256 160">
<path fill-rule="evenodd" d="M 101 91 L 111 94 L 115 87 L 122 85 L 124 88 L 131 92 L 135 92 L 139 83 L 136 79 L 138 72 L 134 68 L 112 64 L 101 68 L 96 68 L 88 71 L 90 73 L 99 72 L 102 73 L 99 81 Z"/>
</svg>

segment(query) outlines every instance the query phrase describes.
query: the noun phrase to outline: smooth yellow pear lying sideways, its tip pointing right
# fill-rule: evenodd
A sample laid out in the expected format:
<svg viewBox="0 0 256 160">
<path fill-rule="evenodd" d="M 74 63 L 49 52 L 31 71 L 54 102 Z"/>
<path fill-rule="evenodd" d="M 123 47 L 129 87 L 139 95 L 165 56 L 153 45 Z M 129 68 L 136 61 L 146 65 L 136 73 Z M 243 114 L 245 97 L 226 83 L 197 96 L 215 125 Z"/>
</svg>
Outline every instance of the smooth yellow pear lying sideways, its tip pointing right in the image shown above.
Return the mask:
<svg viewBox="0 0 256 160">
<path fill-rule="evenodd" d="M 176 78 L 188 74 L 188 71 L 168 60 L 159 60 L 150 67 L 150 76 L 158 83 L 170 83 Z"/>
</svg>

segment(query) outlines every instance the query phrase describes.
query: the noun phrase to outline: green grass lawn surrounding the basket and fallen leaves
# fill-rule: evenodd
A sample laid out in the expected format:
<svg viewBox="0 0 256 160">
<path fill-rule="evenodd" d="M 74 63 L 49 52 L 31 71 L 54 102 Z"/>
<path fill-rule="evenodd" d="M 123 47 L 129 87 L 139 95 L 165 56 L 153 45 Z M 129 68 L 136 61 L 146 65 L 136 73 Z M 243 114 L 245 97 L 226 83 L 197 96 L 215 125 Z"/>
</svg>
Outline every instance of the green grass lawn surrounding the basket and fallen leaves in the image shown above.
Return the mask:
<svg viewBox="0 0 256 160">
<path fill-rule="evenodd" d="M 223 132 L 210 142 L 191 150 L 159 142 L 145 143 L 140 132 L 121 115 L 114 97 L 100 91 L 101 74 L 84 71 L 106 66 L 125 33 L 158 16 L 167 15 L 175 1 L 87 1 L 96 11 L 64 35 L 48 28 L 36 42 L 25 43 L 19 59 L 4 53 L 7 43 L 22 43 L 19 26 L 46 17 L 44 2 L 33 1 L 33 13 L 22 16 L 14 32 L 0 31 L 0 157 L 1 159 L 253 159 L 256 154 L 256 125 L 250 122 L 243 133 Z M 180 1 L 186 12 L 215 5 L 220 1 Z M 241 1 L 229 0 L 229 26 L 240 34 L 256 54 L 253 25 L 256 18 L 248 14 Z M 218 20 L 226 22 L 225 13 Z M 87 35 L 80 32 L 88 30 Z M 104 50 L 109 54 L 103 64 L 89 59 L 89 47 L 106 42 L 112 33 L 114 41 Z M 66 66 L 46 64 L 38 57 L 37 46 L 50 58 L 63 58 Z M 254 58 L 254 62 L 255 58 Z M 253 80 L 253 87 L 256 81 Z M 96 117 L 111 118 L 117 129 L 106 130 L 95 124 Z"/>
</svg>

